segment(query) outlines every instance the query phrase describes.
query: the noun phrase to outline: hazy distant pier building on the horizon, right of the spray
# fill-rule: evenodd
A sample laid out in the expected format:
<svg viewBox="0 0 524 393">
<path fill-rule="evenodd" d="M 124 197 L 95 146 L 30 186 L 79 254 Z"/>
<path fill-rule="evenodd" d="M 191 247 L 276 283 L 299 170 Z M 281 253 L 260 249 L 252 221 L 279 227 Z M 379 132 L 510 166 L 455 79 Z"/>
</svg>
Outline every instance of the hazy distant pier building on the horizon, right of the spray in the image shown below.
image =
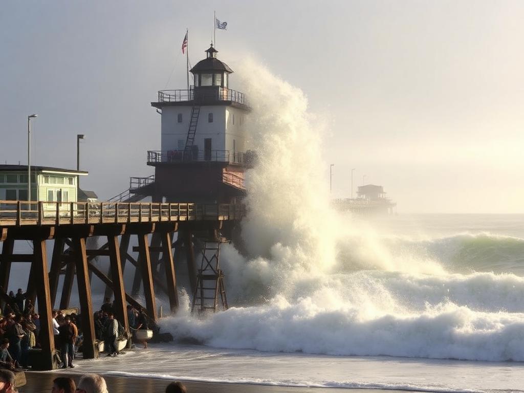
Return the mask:
<svg viewBox="0 0 524 393">
<path fill-rule="evenodd" d="M 397 213 L 397 203 L 386 197 L 383 186 L 375 184 L 359 186 L 357 198 L 335 199 L 332 204 L 337 210 L 363 215 Z"/>
</svg>

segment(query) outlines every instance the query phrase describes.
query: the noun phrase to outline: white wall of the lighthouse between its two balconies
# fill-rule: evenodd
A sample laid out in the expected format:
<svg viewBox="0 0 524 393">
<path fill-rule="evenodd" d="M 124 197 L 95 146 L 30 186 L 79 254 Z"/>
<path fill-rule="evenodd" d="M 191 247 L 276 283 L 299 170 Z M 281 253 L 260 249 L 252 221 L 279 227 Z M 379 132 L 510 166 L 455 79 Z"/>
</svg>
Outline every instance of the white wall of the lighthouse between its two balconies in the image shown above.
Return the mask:
<svg viewBox="0 0 524 393">
<path fill-rule="evenodd" d="M 183 150 L 188 137 L 192 106 L 164 106 L 162 108 L 162 151 Z M 182 122 L 178 123 L 178 114 L 182 114 Z M 209 114 L 213 114 L 213 122 L 209 122 Z M 200 108 L 194 145 L 199 151 L 204 150 L 204 139 L 211 138 L 212 150 L 228 150 L 225 144 L 226 107 L 223 105 L 205 105 Z"/>
</svg>

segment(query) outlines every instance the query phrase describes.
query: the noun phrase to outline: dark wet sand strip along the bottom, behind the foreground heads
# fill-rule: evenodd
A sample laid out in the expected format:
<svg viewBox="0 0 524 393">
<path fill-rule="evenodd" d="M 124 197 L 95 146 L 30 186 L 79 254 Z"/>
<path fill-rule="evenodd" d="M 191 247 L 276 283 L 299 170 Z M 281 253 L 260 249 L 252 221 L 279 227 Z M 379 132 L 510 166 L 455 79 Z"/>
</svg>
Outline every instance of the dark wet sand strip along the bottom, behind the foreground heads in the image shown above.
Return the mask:
<svg viewBox="0 0 524 393">
<path fill-rule="evenodd" d="M 26 372 L 27 384 L 19 388 L 20 393 L 49 393 L 53 379 L 68 376 L 78 382 L 81 374 L 63 372 Z M 109 393 L 153 393 L 163 392 L 171 382 L 167 379 L 104 376 Z M 373 393 L 377 389 L 307 388 L 244 384 L 215 384 L 207 382 L 185 382 L 188 393 Z"/>
</svg>

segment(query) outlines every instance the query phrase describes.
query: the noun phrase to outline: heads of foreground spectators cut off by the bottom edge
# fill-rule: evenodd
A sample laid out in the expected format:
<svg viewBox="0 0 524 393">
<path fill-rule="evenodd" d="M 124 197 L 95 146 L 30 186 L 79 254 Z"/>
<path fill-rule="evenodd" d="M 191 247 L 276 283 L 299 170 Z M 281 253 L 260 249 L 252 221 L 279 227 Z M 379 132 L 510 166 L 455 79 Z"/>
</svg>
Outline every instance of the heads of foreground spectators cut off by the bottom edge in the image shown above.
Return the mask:
<svg viewBox="0 0 524 393">
<path fill-rule="evenodd" d="M 84 374 L 78 384 L 73 378 L 58 377 L 53 380 L 51 393 L 108 393 L 105 379 L 97 374 Z M 15 374 L 9 370 L 0 369 L 0 393 L 17 393 Z M 187 389 L 178 381 L 166 387 L 166 393 L 187 393 Z"/>
</svg>

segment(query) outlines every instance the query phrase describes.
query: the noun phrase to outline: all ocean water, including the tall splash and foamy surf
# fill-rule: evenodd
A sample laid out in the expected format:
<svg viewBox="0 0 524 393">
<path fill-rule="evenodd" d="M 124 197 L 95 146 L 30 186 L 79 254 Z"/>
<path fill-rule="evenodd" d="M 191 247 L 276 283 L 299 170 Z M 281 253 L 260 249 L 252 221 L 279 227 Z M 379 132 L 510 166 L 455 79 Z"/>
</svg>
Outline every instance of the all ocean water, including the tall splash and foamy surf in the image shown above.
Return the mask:
<svg viewBox="0 0 524 393">
<path fill-rule="evenodd" d="M 518 391 L 524 386 L 524 216 L 330 208 L 328 128 L 300 89 L 237 68 L 259 163 L 246 172 L 246 251 L 225 245 L 230 309 L 191 315 L 175 342 L 80 371 L 282 386 Z M 252 75 L 256 75 L 253 79 Z M 401 211 L 401 201 L 399 211 Z M 161 299 L 159 299 L 161 301 Z"/>
</svg>

